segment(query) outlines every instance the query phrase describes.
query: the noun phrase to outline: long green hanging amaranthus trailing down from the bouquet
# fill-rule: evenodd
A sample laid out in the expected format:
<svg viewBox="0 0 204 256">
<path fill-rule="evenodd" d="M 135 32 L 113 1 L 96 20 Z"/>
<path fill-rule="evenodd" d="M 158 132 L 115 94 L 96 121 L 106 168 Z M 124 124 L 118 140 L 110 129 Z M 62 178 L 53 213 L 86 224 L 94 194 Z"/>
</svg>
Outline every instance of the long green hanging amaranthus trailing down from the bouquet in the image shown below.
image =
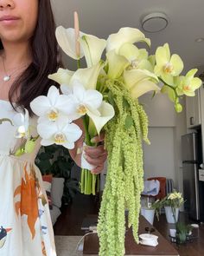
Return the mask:
<svg viewBox="0 0 204 256">
<path fill-rule="evenodd" d="M 138 242 L 140 194 L 143 191 L 142 139 L 149 142 L 148 119 L 123 82 L 106 82 L 116 115 L 105 126 L 108 170 L 99 212 L 99 255 L 124 255 L 125 210 Z"/>
</svg>

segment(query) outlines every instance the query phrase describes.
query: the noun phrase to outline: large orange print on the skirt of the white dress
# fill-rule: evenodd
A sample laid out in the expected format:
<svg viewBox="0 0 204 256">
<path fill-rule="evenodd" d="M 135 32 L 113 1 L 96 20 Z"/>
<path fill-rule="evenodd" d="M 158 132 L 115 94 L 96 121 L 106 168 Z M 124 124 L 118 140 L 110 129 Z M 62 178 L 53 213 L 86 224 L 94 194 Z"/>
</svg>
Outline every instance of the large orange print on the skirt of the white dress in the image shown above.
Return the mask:
<svg viewBox="0 0 204 256">
<path fill-rule="evenodd" d="M 29 230 L 32 239 L 35 237 L 35 222 L 38 218 L 38 195 L 36 194 L 36 179 L 34 167 L 30 166 L 30 174 L 27 172 L 27 163 L 24 166 L 25 180 L 22 178 L 22 185 L 16 187 L 14 197 L 20 194 L 21 200 L 16 202 L 16 214 L 21 213 L 28 216 Z M 39 185 L 37 184 L 37 187 Z"/>
</svg>

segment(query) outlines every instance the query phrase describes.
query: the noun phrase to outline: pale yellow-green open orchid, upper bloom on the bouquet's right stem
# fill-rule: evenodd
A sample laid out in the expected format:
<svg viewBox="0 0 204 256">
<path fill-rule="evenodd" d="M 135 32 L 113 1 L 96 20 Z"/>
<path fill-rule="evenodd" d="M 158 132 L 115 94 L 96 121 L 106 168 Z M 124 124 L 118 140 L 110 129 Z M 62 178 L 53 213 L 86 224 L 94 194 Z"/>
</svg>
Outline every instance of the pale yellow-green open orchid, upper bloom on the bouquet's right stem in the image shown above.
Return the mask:
<svg viewBox="0 0 204 256">
<path fill-rule="evenodd" d="M 165 43 L 156 49 L 155 74 L 161 76 L 164 82 L 173 85 L 173 76 L 179 75 L 183 69 L 180 56 L 170 56 L 169 44 Z"/>
</svg>

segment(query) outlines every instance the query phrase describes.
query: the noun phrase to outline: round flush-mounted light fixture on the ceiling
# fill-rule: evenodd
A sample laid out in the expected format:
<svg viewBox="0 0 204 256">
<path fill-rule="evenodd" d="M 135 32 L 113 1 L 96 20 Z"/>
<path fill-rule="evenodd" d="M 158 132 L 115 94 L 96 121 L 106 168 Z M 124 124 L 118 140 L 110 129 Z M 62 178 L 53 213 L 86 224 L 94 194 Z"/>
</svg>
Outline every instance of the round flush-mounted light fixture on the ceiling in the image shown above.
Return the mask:
<svg viewBox="0 0 204 256">
<path fill-rule="evenodd" d="M 169 23 L 169 18 L 162 12 L 153 12 L 141 20 L 142 28 L 146 32 L 156 33 L 164 30 Z"/>
</svg>

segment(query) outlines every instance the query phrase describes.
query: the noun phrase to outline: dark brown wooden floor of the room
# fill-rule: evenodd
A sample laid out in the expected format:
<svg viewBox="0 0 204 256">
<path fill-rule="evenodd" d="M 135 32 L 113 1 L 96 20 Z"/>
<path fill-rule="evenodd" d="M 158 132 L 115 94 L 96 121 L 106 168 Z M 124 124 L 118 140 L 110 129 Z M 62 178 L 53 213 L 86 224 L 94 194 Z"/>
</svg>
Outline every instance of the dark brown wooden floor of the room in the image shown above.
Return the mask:
<svg viewBox="0 0 204 256">
<path fill-rule="evenodd" d="M 54 225 L 54 233 L 56 235 L 83 235 L 84 231 L 80 229 L 82 221 L 90 214 L 99 213 L 99 198 L 94 196 L 77 194 L 73 200 L 73 204 L 65 207 L 61 216 Z M 180 220 L 186 223 L 195 223 L 188 220 L 188 216 L 180 213 Z M 154 221 L 156 229 L 169 240 L 169 228 L 174 228 L 173 224 L 168 224 L 165 219 L 165 214 L 160 216 L 160 220 Z M 198 236 L 191 243 L 186 245 L 175 246 L 180 256 L 204 256 L 204 225 L 200 224 L 198 229 L 194 229 L 194 235 Z"/>
</svg>

